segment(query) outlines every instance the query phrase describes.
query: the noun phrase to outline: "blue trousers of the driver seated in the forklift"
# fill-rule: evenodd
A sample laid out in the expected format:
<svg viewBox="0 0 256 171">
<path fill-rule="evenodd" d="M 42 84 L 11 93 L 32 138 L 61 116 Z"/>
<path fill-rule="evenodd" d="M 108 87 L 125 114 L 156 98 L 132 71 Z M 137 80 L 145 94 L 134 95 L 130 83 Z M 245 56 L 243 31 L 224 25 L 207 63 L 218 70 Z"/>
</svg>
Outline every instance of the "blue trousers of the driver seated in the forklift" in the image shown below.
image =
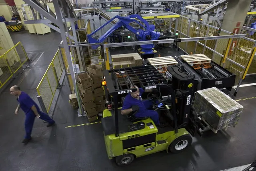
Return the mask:
<svg viewBox="0 0 256 171">
<path fill-rule="evenodd" d="M 159 115 L 155 110 L 148 110 L 153 107 L 153 102 L 151 100 L 144 100 L 143 104 L 147 110 L 145 112 L 139 112 L 135 114 L 135 117 L 142 118 L 142 117 L 149 117 L 153 120 L 153 122 L 158 125 L 159 124 Z"/>
</svg>

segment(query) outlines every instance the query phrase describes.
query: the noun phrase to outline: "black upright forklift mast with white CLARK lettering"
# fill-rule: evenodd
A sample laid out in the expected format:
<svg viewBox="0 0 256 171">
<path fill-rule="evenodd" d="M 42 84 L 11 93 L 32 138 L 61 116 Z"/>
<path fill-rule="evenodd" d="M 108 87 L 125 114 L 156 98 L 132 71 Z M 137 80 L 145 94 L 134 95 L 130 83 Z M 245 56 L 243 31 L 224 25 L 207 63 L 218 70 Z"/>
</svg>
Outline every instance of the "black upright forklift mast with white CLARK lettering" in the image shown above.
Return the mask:
<svg viewBox="0 0 256 171">
<path fill-rule="evenodd" d="M 182 65 L 171 65 L 167 70 L 172 76 L 172 86 L 177 99 L 177 124 L 179 128 L 183 128 L 189 122 L 195 75 L 187 73 Z"/>
</svg>

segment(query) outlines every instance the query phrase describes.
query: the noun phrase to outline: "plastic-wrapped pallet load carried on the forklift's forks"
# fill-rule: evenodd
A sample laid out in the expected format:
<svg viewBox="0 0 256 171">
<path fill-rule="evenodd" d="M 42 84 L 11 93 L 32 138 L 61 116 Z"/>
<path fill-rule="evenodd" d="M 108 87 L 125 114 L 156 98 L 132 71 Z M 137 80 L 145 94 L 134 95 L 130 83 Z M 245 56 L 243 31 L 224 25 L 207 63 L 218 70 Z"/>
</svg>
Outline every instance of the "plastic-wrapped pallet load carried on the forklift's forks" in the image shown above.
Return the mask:
<svg viewBox="0 0 256 171">
<path fill-rule="evenodd" d="M 212 87 L 196 92 L 194 108 L 214 130 L 222 130 L 238 124 L 244 107 Z"/>
</svg>

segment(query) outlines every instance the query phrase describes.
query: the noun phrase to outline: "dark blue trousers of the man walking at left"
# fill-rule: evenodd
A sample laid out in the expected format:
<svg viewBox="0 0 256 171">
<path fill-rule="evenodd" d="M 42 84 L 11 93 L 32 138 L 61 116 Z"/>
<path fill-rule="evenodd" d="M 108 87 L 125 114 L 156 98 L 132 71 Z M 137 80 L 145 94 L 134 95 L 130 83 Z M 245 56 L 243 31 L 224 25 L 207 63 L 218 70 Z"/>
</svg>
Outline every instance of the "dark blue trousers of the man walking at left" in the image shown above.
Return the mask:
<svg viewBox="0 0 256 171">
<path fill-rule="evenodd" d="M 54 123 L 54 120 L 52 120 L 47 114 L 39 111 L 38 114 L 40 114 L 40 119 L 51 123 Z M 26 118 L 25 118 L 25 131 L 26 131 L 26 139 L 30 139 L 31 138 L 31 133 L 32 133 L 32 128 L 34 125 L 34 120 L 36 118 L 36 115 L 34 114 L 34 112 L 28 112 L 26 113 Z"/>
</svg>

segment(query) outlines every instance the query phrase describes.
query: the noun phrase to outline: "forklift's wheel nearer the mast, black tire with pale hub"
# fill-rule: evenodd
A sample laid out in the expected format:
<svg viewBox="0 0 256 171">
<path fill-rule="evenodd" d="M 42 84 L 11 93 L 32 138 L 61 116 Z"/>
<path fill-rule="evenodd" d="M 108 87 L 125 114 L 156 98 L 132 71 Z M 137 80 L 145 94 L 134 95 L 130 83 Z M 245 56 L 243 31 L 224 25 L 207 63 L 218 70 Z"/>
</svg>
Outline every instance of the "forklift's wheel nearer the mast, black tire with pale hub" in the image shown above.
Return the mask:
<svg viewBox="0 0 256 171">
<path fill-rule="evenodd" d="M 169 150 L 171 153 L 180 153 L 189 147 L 192 143 L 192 138 L 189 134 L 176 138 L 170 145 Z"/>
</svg>

